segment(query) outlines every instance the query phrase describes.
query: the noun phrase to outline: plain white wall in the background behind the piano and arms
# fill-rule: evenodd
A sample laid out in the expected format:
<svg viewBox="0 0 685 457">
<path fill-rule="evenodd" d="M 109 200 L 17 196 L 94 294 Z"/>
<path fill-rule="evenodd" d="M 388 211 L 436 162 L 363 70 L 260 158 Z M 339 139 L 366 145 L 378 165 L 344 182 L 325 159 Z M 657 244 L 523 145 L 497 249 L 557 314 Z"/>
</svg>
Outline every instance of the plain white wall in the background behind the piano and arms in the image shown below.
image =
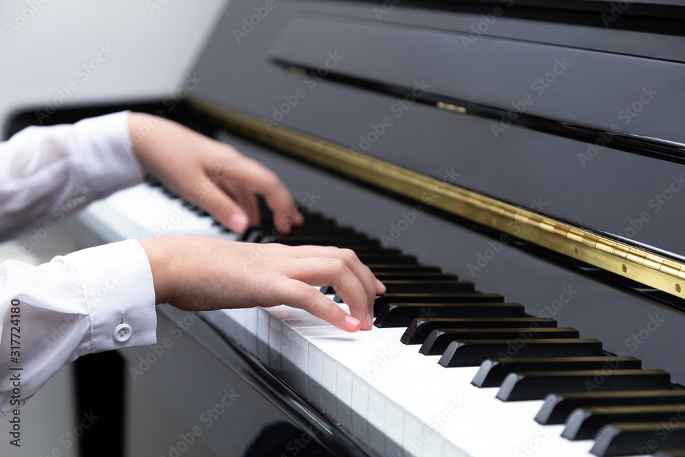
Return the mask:
<svg viewBox="0 0 685 457">
<path fill-rule="evenodd" d="M 225 3 L 1 0 L 0 125 L 12 110 L 45 108 L 55 97 L 84 103 L 170 94 L 186 77 Z M 98 54 L 101 61 L 91 65 Z M 68 239 L 56 238 L 42 243 L 32 262 L 70 250 Z M 0 262 L 12 258 L 14 247 L 0 245 Z M 77 425 L 72 388 L 71 367 L 65 367 L 22 409 L 19 449 L 9 444 L 8 418 L 0 419 L 0 456 L 47 456 L 54 449 L 54 455 L 76 455 L 75 446 L 66 449 L 69 439 L 60 443 Z"/>
</svg>

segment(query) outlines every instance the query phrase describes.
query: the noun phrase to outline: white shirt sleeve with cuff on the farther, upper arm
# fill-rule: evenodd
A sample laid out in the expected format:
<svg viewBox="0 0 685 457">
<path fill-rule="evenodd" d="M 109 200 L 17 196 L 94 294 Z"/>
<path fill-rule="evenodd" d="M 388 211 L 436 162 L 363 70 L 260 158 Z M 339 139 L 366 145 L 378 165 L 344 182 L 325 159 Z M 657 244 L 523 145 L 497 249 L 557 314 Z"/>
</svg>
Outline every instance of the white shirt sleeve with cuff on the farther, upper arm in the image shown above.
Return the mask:
<svg viewBox="0 0 685 457">
<path fill-rule="evenodd" d="M 40 235 L 91 201 L 142 182 L 129 114 L 28 127 L 0 143 L 0 239 Z"/>
</svg>

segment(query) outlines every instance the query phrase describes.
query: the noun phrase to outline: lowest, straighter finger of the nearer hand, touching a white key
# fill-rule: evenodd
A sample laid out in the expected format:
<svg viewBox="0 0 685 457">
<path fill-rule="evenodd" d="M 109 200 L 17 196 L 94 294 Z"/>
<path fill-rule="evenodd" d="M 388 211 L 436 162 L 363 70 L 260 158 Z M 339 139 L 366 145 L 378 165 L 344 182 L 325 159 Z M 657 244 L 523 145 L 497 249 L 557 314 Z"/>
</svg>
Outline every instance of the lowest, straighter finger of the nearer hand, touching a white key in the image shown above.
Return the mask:
<svg viewBox="0 0 685 457">
<path fill-rule="evenodd" d="M 279 301 L 288 306 L 302 308 L 345 332 L 356 332 L 361 323 L 312 286 L 297 280 L 282 280 L 275 286 Z"/>
</svg>

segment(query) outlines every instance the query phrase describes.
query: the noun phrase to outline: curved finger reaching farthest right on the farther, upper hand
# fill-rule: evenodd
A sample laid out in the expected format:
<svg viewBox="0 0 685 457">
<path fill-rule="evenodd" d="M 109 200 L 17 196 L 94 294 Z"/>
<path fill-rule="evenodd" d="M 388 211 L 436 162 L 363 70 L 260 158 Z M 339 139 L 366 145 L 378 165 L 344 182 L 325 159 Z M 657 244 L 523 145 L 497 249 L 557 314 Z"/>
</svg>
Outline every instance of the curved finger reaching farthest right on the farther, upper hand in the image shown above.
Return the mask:
<svg viewBox="0 0 685 457">
<path fill-rule="evenodd" d="M 264 195 L 266 204 L 273 211 L 273 220 L 278 230 L 288 233 L 292 225 L 301 225 L 304 221 L 286 186 L 266 166 L 249 158 L 241 158 L 230 174 L 230 177 L 239 180 L 254 192 Z"/>
</svg>

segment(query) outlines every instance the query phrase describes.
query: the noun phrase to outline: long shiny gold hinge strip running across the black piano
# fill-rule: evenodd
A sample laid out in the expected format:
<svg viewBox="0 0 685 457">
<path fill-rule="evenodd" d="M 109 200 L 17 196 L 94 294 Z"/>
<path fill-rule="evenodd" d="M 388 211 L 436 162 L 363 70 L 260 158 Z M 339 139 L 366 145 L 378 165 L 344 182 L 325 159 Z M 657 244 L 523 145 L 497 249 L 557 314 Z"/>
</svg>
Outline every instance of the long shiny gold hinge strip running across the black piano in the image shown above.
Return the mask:
<svg viewBox="0 0 685 457">
<path fill-rule="evenodd" d="M 453 184 L 445 184 L 421 173 L 287 127 L 267 126 L 254 116 L 222 108 L 197 97 L 188 97 L 186 101 L 230 131 L 286 151 L 297 158 L 392 190 L 416 201 L 423 201 L 424 204 L 422 197 L 430 195 L 433 198 L 430 206 L 445 212 L 629 277 L 676 297 L 683 296 L 681 291 L 685 285 L 685 264 L 680 262 L 597 236 Z"/>
</svg>

